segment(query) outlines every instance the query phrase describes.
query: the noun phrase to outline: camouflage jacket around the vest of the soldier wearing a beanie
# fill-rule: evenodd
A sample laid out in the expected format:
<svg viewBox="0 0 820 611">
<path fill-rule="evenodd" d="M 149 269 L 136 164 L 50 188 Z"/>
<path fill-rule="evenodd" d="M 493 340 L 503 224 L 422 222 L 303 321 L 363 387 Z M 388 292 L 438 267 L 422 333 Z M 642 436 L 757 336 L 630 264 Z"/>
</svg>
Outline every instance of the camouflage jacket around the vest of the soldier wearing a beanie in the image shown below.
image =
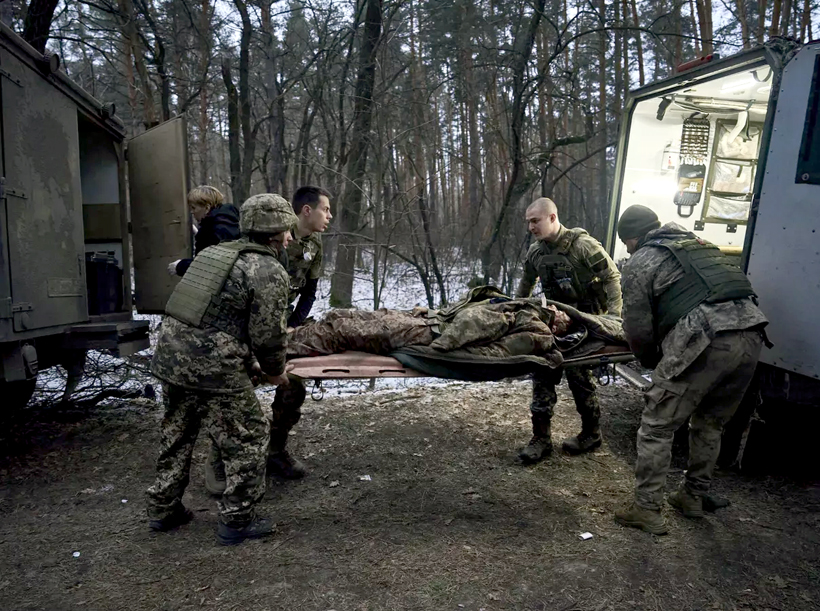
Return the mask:
<svg viewBox="0 0 820 611">
<path fill-rule="evenodd" d="M 690 233 L 677 223 L 650 231 L 644 242 L 683 238 Z M 666 337 L 657 337 L 654 303 L 684 276 L 675 256 L 666 248 L 640 246 L 623 267 L 624 331 L 635 356 L 666 379 L 683 373 L 710 344 L 716 333 L 742 331 L 768 321 L 751 299 L 701 303 L 683 316 Z"/>
</svg>

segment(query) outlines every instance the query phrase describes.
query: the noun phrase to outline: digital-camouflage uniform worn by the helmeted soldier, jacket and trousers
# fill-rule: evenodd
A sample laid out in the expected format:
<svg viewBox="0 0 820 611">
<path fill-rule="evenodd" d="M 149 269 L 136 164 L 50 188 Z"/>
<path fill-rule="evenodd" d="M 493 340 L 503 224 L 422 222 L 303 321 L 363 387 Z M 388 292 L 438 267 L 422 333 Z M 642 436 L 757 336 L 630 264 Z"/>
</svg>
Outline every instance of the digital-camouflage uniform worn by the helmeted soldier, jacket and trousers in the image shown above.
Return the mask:
<svg viewBox="0 0 820 611">
<path fill-rule="evenodd" d="M 232 244 L 241 248 L 248 241 Z M 220 248 L 226 247 L 205 249 L 197 258 Z M 185 278 L 196 265 L 195 260 Z M 255 358 L 268 375 L 284 371 L 287 297 L 287 272 L 272 249 L 257 246 L 238 255 L 216 299 L 223 307 L 244 312 L 236 333 L 220 330 L 217 323 L 195 326 L 170 315 L 164 318 L 151 362 L 152 373 L 166 388 L 157 480 L 148 489 L 152 519 L 161 520 L 181 506 L 194 440 L 204 422 L 225 462 L 222 521 L 243 526 L 251 520 L 265 490 L 269 422 L 254 394 L 248 365 Z"/>
</svg>

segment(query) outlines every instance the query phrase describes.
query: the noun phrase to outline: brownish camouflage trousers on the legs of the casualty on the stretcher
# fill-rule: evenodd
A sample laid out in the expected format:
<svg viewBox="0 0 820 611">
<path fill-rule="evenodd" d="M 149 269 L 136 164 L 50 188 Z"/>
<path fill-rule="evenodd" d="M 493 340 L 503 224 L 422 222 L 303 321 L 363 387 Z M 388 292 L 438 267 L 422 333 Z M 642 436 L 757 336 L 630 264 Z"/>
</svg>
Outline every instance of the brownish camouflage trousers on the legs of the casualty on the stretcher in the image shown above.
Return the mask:
<svg viewBox="0 0 820 611">
<path fill-rule="evenodd" d="M 430 321 L 398 310 L 332 310 L 322 320 L 290 334 L 288 356 L 318 356 L 345 350 L 387 355 L 404 346 L 433 341 Z"/>
</svg>

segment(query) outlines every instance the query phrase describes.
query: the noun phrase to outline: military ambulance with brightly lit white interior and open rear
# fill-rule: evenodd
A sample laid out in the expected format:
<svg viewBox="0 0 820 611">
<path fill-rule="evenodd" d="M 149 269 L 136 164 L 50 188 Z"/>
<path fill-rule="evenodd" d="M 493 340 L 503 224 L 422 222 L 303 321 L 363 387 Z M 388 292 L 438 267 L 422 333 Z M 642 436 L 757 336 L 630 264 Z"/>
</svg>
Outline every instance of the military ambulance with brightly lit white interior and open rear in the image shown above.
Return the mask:
<svg viewBox="0 0 820 611">
<path fill-rule="evenodd" d="M 718 245 L 752 281 L 774 347 L 746 423 L 759 399 L 820 405 L 820 44 L 774 39 L 631 92 L 607 243 L 616 261 L 632 204 Z"/>
</svg>

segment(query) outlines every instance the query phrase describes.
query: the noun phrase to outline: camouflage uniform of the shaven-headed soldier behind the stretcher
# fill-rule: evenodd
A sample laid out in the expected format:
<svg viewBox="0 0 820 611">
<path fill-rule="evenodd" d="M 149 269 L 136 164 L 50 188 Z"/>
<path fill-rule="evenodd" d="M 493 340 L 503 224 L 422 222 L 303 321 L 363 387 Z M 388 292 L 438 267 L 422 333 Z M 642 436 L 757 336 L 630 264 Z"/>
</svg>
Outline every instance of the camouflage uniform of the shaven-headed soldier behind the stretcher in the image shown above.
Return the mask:
<svg viewBox="0 0 820 611">
<path fill-rule="evenodd" d="M 565 277 L 550 281 L 553 273 L 548 269 L 550 259 L 559 257 L 563 257 L 562 264 L 567 268 Z M 548 299 L 590 314 L 621 315 L 620 272 L 601 243 L 583 229 L 561 226 L 553 242 L 542 240 L 532 244 L 527 251 L 524 275 L 515 296 L 529 297 L 536 278 L 541 279 Z M 533 376 L 530 411 L 536 437 L 549 437 L 549 423 L 558 402 L 555 387 L 561 382 L 563 373 L 563 369 L 557 369 Z M 575 407 L 581 415 L 582 434 L 597 430 L 601 409 L 595 394 L 592 370 L 580 367 L 567 369 L 566 376 Z"/>
</svg>

